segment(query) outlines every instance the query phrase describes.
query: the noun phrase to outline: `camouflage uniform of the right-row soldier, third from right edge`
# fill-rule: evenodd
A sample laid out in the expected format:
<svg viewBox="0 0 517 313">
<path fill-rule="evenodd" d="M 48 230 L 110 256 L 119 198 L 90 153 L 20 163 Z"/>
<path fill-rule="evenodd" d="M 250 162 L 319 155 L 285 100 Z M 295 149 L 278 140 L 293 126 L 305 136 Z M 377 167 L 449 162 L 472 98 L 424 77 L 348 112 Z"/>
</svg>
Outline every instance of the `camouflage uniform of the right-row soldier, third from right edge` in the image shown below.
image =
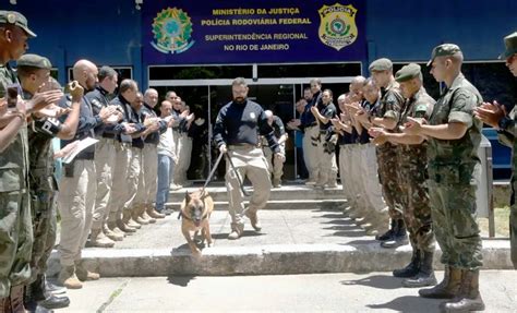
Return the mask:
<svg viewBox="0 0 517 313">
<path fill-rule="evenodd" d="M 425 118 L 433 111 L 435 100 L 422 87 L 416 95 L 406 100 L 400 112 L 398 125 L 404 125 L 408 117 Z M 402 191 L 402 215 L 409 231 L 409 240 L 413 249 L 434 252 L 431 206 L 426 180 L 426 146 L 398 145 L 399 182 Z"/>
</svg>

